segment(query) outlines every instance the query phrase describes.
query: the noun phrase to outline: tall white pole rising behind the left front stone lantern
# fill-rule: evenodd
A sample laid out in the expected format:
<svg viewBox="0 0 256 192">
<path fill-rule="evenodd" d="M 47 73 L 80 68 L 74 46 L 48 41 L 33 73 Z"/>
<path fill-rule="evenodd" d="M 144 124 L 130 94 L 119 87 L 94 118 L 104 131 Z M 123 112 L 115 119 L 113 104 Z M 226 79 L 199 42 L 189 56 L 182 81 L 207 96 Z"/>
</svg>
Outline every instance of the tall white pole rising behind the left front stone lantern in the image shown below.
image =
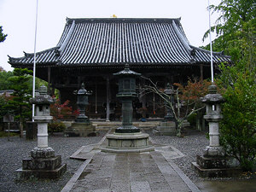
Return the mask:
<svg viewBox="0 0 256 192">
<path fill-rule="evenodd" d="M 38 0 L 37 0 L 37 9 L 36 9 L 36 26 L 35 26 L 35 42 L 34 42 L 34 65 L 33 65 L 33 89 L 32 89 L 32 97 L 35 97 L 35 90 L 36 90 L 37 31 L 38 31 Z M 35 116 L 35 105 L 32 104 L 32 121 L 34 121 L 34 116 Z"/>
</svg>

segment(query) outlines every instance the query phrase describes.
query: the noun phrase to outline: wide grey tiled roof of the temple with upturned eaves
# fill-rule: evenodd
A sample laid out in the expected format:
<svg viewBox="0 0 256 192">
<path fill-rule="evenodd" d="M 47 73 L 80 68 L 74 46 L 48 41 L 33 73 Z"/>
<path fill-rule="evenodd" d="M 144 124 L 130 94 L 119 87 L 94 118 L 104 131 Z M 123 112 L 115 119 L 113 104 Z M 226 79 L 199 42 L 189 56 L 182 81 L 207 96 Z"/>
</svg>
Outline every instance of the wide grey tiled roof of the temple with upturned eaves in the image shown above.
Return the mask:
<svg viewBox="0 0 256 192">
<path fill-rule="evenodd" d="M 213 62 L 230 58 L 213 53 Z M 32 65 L 33 54 L 9 58 Z M 67 19 L 56 47 L 37 53 L 39 66 L 170 65 L 209 63 L 210 52 L 189 44 L 180 19 Z"/>
</svg>

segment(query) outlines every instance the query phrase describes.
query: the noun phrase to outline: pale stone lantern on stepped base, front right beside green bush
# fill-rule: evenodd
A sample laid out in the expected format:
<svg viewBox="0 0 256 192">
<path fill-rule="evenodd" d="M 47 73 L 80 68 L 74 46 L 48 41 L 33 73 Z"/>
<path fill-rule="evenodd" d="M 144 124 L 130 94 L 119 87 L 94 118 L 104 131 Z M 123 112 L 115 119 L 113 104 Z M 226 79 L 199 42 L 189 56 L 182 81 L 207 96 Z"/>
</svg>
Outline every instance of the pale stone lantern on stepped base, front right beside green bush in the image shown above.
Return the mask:
<svg viewBox="0 0 256 192">
<path fill-rule="evenodd" d="M 219 144 L 218 123 L 223 119 L 220 103 L 224 102 L 224 98 L 217 93 L 216 86 L 212 84 L 209 86 L 209 94 L 201 98 L 201 102 L 207 104 L 204 119 L 209 122 L 210 144 L 203 155 L 196 156 L 196 162 L 192 165 L 201 177 L 236 177 L 241 173 L 238 161 L 227 156 Z"/>
</svg>

